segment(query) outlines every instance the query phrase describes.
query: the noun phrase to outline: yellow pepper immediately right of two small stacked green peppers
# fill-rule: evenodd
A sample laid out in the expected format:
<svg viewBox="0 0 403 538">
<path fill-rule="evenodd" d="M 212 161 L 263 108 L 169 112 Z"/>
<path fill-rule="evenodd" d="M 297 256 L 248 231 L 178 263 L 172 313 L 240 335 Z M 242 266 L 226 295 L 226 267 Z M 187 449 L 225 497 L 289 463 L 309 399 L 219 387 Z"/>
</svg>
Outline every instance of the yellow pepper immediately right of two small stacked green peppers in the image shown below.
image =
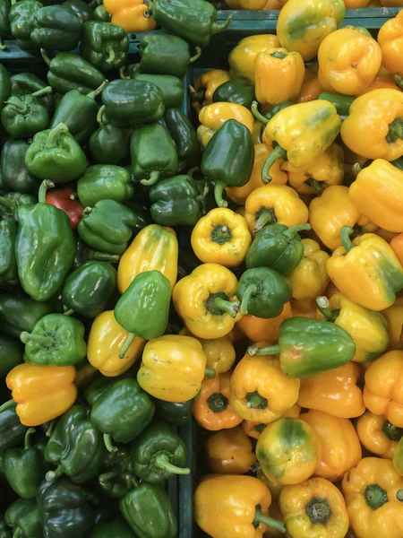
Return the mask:
<svg viewBox="0 0 403 538">
<path fill-rule="evenodd" d="M 326 273 L 326 263 L 330 256 L 321 250 L 319 243 L 313 239 L 303 239 L 302 244 L 304 257 L 296 265 L 296 268 L 287 274 L 287 279 L 293 289 L 294 299 L 316 299 L 326 290 L 330 281 L 328 273 Z"/>
</svg>

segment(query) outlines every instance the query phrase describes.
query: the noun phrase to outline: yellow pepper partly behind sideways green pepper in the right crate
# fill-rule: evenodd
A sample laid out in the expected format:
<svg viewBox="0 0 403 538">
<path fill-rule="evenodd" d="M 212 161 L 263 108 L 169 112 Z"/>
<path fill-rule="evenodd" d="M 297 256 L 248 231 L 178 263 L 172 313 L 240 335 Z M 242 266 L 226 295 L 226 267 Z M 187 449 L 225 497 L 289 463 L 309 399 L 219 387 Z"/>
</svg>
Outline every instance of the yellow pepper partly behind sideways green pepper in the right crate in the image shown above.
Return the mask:
<svg viewBox="0 0 403 538">
<path fill-rule="evenodd" d="M 330 299 L 318 297 L 316 303 L 325 319 L 342 327 L 353 338 L 356 354 L 352 360 L 370 362 L 387 349 L 388 324 L 381 313 L 362 308 L 341 293 Z"/>
</svg>

